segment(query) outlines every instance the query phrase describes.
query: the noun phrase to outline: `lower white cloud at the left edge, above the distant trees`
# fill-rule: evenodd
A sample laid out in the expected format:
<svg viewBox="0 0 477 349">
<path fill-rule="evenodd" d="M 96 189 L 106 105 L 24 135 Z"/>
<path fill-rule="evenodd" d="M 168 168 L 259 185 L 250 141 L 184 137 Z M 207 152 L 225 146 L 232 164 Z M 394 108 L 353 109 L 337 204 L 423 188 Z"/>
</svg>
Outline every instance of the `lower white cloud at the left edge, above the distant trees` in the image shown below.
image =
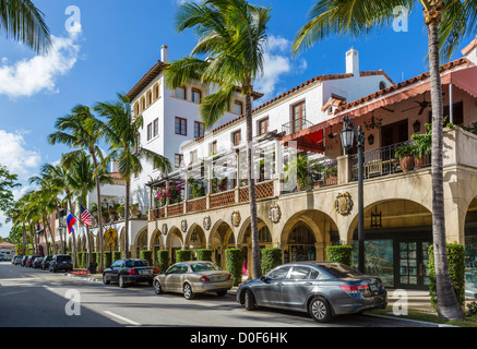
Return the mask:
<svg viewBox="0 0 477 349">
<path fill-rule="evenodd" d="M 11 173 L 25 180 L 37 170 L 41 156 L 35 151 L 26 148 L 22 133 L 9 133 L 0 130 L 0 165 L 5 166 Z"/>
</svg>

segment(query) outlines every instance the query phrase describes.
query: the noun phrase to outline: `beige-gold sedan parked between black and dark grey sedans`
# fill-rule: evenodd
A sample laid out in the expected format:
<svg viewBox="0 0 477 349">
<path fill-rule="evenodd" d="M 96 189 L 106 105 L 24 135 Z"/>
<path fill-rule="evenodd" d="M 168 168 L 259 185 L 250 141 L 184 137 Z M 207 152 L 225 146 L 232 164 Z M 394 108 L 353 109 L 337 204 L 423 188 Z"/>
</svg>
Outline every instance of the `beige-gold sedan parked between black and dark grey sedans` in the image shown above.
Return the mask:
<svg viewBox="0 0 477 349">
<path fill-rule="evenodd" d="M 212 262 L 177 263 L 154 278 L 156 294 L 180 292 L 188 300 L 202 292 L 225 296 L 232 286 L 230 274 Z"/>
</svg>

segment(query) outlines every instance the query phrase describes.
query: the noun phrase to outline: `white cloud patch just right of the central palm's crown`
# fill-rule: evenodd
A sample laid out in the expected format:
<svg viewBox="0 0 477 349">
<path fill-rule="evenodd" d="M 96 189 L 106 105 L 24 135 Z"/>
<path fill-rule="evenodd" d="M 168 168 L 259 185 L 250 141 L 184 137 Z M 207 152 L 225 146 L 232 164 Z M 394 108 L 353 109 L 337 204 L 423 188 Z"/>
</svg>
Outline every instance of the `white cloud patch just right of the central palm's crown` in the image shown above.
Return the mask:
<svg viewBox="0 0 477 349">
<path fill-rule="evenodd" d="M 254 89 L 264 94 L 260 103 L 276 96 L 282 76 L 289 73 L 302 73 L 308 64 L 305 59 L 299 62 L 291 60 L 291 43 L 279 36 L 269 36 L 267 49 L 264 52 L 263 75 L 254 82 Z M 285 88 L 287 89 L 287 88 Z"/>
</svg>

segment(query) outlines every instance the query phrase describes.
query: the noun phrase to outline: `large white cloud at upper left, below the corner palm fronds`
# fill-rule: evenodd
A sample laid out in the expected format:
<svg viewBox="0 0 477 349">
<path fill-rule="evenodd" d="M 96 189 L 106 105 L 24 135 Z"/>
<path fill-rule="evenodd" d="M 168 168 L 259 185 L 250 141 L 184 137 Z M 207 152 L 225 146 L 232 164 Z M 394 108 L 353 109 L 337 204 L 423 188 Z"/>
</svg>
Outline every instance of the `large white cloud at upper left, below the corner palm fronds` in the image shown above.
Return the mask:
<svg viewBox="0 0 477 349">
<path fill-rule="evenodd" d="M 58 93 L 56 82 L 76 63 L 80 52 L 79 33 L 69 32 L 69 37 L 52 36 L 52 48 L 45 56 L 35 56 L 8 64 L 0 64 L 0 95 L 10 98 L 31 97 L 43 91 Z"/>
</svg>

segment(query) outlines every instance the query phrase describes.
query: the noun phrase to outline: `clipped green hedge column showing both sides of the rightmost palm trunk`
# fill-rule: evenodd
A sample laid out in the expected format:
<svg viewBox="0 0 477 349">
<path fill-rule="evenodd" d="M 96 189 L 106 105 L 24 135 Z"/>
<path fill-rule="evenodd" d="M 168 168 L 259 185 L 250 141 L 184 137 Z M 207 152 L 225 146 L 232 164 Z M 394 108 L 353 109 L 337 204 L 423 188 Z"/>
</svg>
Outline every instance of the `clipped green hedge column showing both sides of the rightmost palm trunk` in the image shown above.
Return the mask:
<svg viewBox="0 0 477 349">
<path fill-rule="evenodd" d="M 465 249 L 460 243 L 448 243 L 449 273 L 455 296 L 461 305 L 465 301 Z M 438 294 L 436 285 L 436 264 L 433 245 L 429 246 L 429 294 L 431 305 L 437 310 Z"/>
</svg>

